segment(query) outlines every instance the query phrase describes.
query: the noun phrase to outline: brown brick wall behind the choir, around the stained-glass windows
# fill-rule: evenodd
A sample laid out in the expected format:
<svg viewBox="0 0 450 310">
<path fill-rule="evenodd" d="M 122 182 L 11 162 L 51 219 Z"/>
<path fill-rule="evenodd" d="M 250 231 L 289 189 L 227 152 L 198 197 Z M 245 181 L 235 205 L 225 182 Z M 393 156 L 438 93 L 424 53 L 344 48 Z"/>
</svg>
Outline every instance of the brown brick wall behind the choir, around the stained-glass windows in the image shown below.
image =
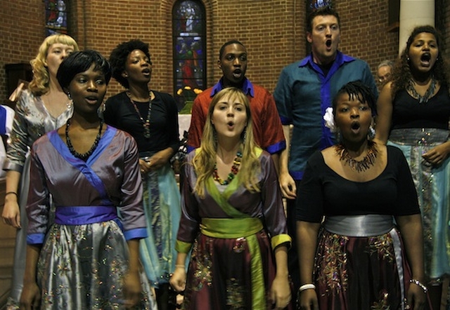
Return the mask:
<svg viewBox="0 0 450 310">
<path fill-rule="evenodd" d="M 281 69 L 306 53 L 305 1 L 202 0 L 207 16 L 207 84 L 221 76 L 217 68 L 219 48 L 238 39 L 248 48 L 248 76 L 274 90 Z M 449 29 L 447 0 L 436 0 L 444 29 Z M 389 32 L 389 0 L 335 0 L 342 21 L 340 49 L 364 59 L 373 72 L 381 60 L 397 57 L 398 32 Z M 71 0 L 72 36 L 80 48 L 103 55 L 122 41 L 142 39 L 150 44 L 153 60 L 151 87 L 172 93 L 172 6 L 174 0 Z M 42 0 L 1 0 L 0 96 L 8 97 L 4 65 L 29 62 L 44 39 Z M 441 7 L 442 7 L 441 6 Z M 450 41 L 450 32 L 446 33 Z M 448 46 L 448 44 L 447 44 Z M 449 54 L 449 52 L 446 52 Z M 115 81 L 108 95 L 122 90 Z"/>
</svg>

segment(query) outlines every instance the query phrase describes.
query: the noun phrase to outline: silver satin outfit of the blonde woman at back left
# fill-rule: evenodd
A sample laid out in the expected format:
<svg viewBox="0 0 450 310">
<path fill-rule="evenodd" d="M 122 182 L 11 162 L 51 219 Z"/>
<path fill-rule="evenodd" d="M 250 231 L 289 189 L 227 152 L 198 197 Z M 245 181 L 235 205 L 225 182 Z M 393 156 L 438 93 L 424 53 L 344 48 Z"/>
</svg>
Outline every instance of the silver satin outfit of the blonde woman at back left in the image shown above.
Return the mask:
<svg viewBox="0 0 450 310">
<path fill-rule="evenodd" d="M 33 142 L 51 130 L 60 128 L 72 116 L 72 106 L 57 118 L 47 111 L 41 97 L 34 96 L 29 90 L 24 90 L 15 105 L 13 131 L 8 140 L 8 150 L 4 170 L 15 170 L 21 174 L 19 184 L 20 225 L 15 236 L 15 251 L 13 264 L 13 283 L 8 306 L 18 308 L 18 300 L 23 288 L 25 271 L 25 248 L 27 238 L 27 203 L 28 187 L 30 186 L 30 160 L 27 156 Z"/>
</svg>

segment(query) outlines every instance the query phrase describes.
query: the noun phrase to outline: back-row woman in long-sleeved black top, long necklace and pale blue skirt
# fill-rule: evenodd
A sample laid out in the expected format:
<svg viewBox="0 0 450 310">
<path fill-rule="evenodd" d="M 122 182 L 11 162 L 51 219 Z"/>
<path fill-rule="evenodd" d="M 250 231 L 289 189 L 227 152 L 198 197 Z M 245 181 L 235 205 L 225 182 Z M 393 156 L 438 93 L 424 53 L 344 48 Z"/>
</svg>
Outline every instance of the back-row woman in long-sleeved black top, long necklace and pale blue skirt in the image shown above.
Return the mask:
<svg viewBox="0 0 450 310">
<path fill-rule="evenodd" d="M 141 262 L 155 287 L 158 308 L 174 309 L 169 274 L 180 219 L 180 194 L 169 160 L 179 149 L 178 110 L 167 93 L 150 90 L 152 62 L 148 44 L 120 43 L 111 53 L 113 77 L 127 88 L 106 101 L 106 123 L 132 135 L 138 144 L 148 238 L 140 242 Z M 170 304 L 170 305 L 169 305 Z"/>
</svg>

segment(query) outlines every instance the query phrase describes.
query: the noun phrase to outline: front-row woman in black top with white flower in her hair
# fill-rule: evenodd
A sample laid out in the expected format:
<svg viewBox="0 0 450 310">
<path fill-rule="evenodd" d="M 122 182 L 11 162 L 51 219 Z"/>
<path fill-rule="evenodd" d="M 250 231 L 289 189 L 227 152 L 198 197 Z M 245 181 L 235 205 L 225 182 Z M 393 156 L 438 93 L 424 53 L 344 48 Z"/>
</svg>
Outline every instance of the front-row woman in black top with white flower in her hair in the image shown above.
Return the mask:
<svg viewBox="0 0 450 310">
<path fill-rule="evenodd" d="M 416 189 L 401 151 L 368 137 L 373 115 L 370 88 L 347 83 L 324 117 L 340 143 L 308 160 L 296 208 L 301 309 L 424 309 Z"/>
</svg>

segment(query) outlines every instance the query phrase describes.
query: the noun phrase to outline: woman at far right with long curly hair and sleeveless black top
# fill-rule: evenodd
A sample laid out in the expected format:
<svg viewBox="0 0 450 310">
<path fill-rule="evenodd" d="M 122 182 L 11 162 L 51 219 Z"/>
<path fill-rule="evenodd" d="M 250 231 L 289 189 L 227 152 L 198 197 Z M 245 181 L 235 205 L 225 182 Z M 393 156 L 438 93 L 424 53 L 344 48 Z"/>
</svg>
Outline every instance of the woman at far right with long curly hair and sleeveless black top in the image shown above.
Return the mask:
<svg viewBox="0 0 450 310">
<path fill-rule="evenodd" d="M 378 98 L 375 136 L 399 147 L 409 162 L 419 195 L 433 309 L 439 309 L 441 299 L 447 299 L 446 309 L 450 306 L 450 76 L 442 42 L 434 27 L 413 29 L 392 81 Z"/>
</svg>

